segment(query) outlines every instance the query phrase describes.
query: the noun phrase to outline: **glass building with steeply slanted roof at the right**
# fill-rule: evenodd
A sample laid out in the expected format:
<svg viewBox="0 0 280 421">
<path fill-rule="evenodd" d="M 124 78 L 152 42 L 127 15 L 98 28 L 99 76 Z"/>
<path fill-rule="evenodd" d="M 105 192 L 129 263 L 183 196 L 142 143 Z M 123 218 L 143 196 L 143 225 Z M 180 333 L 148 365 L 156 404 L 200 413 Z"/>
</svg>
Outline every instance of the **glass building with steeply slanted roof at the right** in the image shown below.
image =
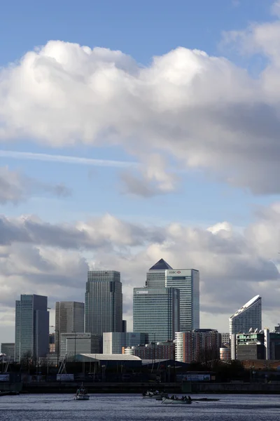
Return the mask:
<svg viewBox="0 0 280 421">
<path fill-rule="evenodd" d="M 250 329 L 262 328 L 262 298 L 255 295 L 230 317 L 230 345 L 232 359 L 238 359 L 236 354 L 237 333 L 248 333 Z"/>
</svg>

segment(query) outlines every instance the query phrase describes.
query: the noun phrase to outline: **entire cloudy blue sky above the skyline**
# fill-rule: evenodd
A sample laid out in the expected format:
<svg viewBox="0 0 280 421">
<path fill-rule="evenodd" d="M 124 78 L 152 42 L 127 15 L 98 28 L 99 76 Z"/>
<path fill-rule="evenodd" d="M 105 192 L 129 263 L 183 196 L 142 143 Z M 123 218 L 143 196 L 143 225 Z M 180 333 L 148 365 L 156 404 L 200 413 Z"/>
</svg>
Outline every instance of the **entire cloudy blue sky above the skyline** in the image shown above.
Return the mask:
<svg viewBox="0 0 280 421">
<path fill-rule="evenodd" d="M 280 2 L 11 0 L 0 16 L 0 342 L 15 300 L 200 270 L 201 327 L 280 322 Z"/>
</svg>

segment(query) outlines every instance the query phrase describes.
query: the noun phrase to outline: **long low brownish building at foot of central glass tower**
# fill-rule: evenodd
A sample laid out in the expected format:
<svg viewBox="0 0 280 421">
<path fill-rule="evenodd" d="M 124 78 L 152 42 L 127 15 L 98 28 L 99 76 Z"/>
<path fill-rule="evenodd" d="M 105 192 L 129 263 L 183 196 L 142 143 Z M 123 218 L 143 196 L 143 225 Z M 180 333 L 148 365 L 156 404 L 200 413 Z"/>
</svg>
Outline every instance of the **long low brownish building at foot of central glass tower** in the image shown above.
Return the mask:
<svg viewBox="0 0 280 421">
<path fill-rule="evenodd" d="M 174 360 L 174 341 L 155 342 L 123 348 L 123 354 L 139 356 L 143 360 Z"/>
</svg>

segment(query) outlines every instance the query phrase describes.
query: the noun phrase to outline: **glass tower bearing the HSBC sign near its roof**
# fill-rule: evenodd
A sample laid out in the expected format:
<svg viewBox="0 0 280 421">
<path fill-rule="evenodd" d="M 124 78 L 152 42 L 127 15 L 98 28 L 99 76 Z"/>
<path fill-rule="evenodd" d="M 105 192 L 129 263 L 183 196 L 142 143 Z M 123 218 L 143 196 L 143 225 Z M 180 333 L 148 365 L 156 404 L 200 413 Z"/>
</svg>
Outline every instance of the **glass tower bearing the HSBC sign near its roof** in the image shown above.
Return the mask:
<svg viewBox="0 0 280 421">
<path fill-rule="evenodd" d="M 200 328 L 200 272 L 195 269 L 168 269 L 165 286 L 180 290 L 180 332 Z"/>
</svg>

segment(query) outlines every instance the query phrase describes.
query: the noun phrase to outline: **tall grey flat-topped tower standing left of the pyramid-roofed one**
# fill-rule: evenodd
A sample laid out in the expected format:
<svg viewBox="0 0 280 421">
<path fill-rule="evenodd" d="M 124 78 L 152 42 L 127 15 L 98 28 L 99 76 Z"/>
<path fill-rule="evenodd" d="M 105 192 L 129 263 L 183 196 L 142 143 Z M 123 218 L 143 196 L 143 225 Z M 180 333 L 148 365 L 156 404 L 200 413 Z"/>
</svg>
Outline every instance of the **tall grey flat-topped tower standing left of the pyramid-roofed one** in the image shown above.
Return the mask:
<svg viewBox="0 0 280 421">
<path fill-rule="evenodd" d="M 87 274 L 85 330 L 96 335 L 123 330 L 120 272 L 93 270 Z"/>
</svg>

